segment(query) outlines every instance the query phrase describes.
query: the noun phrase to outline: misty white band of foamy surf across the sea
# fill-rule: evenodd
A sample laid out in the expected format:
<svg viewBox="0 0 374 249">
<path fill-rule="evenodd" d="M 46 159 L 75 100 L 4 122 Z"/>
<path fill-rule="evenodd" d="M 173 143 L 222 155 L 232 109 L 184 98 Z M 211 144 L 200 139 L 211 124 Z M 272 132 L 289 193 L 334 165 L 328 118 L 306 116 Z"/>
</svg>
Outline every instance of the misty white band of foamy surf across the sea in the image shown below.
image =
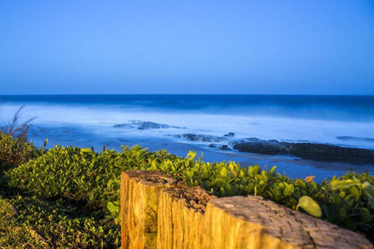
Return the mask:
<svg viewBox="0 0 374 249">
<path fill-rule="evenodd" d="M 3 104 L 0 107 L 0 123 L 11 121 L 20 105 Z M 184 133 L 223 136 L 234 132 L 235 138 L 278 139 L 281 141 L 310 141 L 342 146 L 374 148 L 373 121 L 307 120 L 289 117 L 262 115 L 229 115 L 205 113 L 202 111 L 147 111 L 129 109 L 115 105 L 43 105 L 28 104 L 22 111 L 22 120 L 32 120 L 32 124 L 43 127 L 80 126 L 90 132 L 108 138 L 171 137 Z M 166 124 L 168 129 L 137 129 L 134 127 L 115 128 L 116 124 L 131 121 L 149 121 Z M 184 128 L 184 129 L 177 129 Z M 191 142 L 180 138 L 180 142 Z"/>
</svg>

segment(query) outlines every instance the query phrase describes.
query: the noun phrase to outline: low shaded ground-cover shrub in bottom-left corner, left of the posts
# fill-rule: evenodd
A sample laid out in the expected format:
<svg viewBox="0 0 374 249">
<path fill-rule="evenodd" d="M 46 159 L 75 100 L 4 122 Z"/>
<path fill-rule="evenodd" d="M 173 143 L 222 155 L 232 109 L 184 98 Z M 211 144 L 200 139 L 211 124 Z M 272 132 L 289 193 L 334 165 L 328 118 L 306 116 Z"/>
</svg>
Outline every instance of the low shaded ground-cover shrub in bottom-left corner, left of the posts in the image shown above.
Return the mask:
<svg viewBox="0 0 374 249">
<path fill-rule="evenodd" d="M 18 222 L 32 226 L 53 248 L 118 248 L 120 227 L 108 227 L 102 214 L 68 200 L 16 196 Z"/>
</svg>

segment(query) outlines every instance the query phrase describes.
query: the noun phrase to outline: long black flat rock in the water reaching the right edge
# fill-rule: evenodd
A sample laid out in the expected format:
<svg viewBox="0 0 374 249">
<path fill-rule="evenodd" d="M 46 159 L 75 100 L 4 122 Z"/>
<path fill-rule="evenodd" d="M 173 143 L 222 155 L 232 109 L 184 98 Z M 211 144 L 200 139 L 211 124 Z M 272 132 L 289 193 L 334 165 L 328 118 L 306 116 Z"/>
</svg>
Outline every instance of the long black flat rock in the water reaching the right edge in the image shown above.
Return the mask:
<svg viewBox="0 0 374 249">
<path fill-rule="evenodd" d="M 338 147 L 312 143 L 282 143 L 289 154 L 315 161 L 339 161 L 352 164 L 374 164 L 374 151 L 365 148 Z"/>
</svg>

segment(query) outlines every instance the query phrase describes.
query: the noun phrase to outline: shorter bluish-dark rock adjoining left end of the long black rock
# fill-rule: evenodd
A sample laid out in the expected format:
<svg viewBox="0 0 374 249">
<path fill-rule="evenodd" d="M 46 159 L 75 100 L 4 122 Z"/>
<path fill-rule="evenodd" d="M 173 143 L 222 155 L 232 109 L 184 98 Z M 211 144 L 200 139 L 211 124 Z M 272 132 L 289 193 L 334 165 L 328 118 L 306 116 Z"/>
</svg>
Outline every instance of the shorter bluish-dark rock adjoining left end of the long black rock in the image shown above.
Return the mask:
<svg viewBox="0 0 374 249">
<path fill-rule="evenodd" d="M 244 142 L 234 145 L 240 152 L 250 152 L 265 155 L 287 155 L 289 150 L 277 140 L 261 140 L 258 138 L 245 138 Z"/>
</svg>

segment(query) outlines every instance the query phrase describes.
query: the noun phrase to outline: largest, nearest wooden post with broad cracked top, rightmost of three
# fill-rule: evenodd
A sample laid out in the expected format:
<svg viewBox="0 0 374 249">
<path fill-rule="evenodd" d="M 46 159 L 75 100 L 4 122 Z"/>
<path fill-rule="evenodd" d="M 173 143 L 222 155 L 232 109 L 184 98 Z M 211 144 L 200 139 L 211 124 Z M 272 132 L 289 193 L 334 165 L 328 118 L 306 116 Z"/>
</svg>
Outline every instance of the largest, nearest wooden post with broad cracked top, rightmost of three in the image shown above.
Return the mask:
<svg viewBox="0 0 374 249">
<path fill-rule="evenodd" d="M 210 200 L 201 248 L 372 248 L 357 233 L 261 197 Z"/>
</svg>

